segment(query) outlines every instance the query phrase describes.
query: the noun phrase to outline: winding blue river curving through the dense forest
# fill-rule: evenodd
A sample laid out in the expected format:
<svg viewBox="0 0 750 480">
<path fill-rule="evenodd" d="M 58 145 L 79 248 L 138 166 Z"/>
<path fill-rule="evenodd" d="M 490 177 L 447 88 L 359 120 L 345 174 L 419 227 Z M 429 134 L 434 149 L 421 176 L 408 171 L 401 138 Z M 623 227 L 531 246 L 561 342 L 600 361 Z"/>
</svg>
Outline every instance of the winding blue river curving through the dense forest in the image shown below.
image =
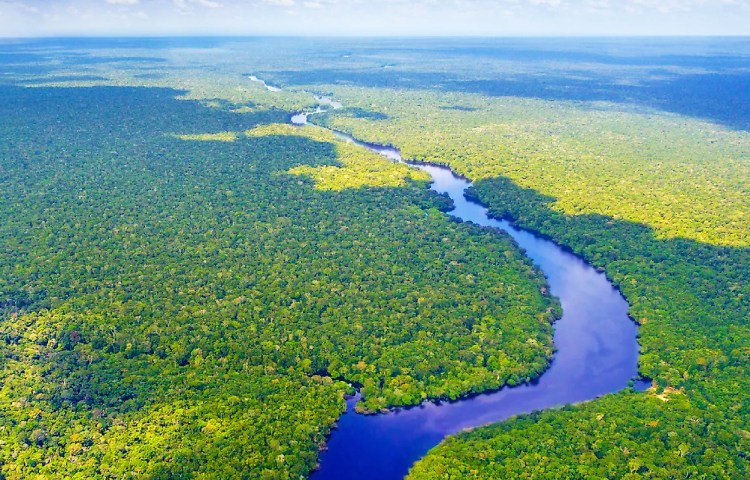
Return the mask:
<svg viewBox="0 0 750 480">
<path fill-rule="evenodd" d="M 325 97 L 333 108 L 340 104 Z M 307 124 L 308 115 L 291 119 Z M 398 149 L 366 143 L 335 132 L 346 141 L 403 161 Z M 455 204 L 448 214 L 463 221 L 508 233 L 544 272 L 550 291 L 560 299 L 563 316 L 555 323 L 557 351 L 550 368 L 537 380 L 456 402 L 425 402 L 418 407 L 379 415 L 354 413 L 358 397 L 347 402 L 347 412 L 322 453 L 320 469 L 312 478 L 399 479 L 447 435 L 498 422 L 513 415 L 591 400 L 616 392 L 637 377 L 637 327 L 628 317 L 628 304 L 604 274 L 553 242 L 490 218 L 487 209 L 464 197 L 471 183 L 445 167 L 412 164 L 432 176 L 432 190 L 447 193 Z M 637 389 L 648 384 L 635 381 Z"/>
</svg>

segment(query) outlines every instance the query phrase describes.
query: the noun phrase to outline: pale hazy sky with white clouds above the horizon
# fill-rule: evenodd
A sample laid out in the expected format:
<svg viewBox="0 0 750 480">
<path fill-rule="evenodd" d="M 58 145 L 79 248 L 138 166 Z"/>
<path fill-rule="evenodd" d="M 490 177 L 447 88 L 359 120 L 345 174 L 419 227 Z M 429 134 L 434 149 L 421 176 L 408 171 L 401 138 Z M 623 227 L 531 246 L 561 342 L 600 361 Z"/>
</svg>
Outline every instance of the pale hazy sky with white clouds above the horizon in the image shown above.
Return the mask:
<svg viewBox="0 0 750 480">
<path fill-rule="evenodd" d="M 0 36 L 750 35 L 750 0 L 0 0 Z"/>
</svg>

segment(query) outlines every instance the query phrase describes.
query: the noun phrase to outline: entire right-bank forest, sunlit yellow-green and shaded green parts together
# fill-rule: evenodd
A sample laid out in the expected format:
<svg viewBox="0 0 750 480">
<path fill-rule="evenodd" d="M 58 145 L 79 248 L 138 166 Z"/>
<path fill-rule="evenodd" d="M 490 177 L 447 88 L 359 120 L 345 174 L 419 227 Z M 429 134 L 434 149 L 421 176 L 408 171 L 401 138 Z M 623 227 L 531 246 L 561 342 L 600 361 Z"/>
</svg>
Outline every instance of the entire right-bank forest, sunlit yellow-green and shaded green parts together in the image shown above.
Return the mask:
<svg viewBox="0 0 750 480">
<path fill-rule="evenodd" d="M 605 270 L 641 323 L 640 371 L 655 382 L 461 434 L 413 478 L 748 475 L 746 133 L 611 105 L 340 93 L 388 119 L 321 121 L 478 179 L 471 194 L 494 215 Z"/>
</svg>

